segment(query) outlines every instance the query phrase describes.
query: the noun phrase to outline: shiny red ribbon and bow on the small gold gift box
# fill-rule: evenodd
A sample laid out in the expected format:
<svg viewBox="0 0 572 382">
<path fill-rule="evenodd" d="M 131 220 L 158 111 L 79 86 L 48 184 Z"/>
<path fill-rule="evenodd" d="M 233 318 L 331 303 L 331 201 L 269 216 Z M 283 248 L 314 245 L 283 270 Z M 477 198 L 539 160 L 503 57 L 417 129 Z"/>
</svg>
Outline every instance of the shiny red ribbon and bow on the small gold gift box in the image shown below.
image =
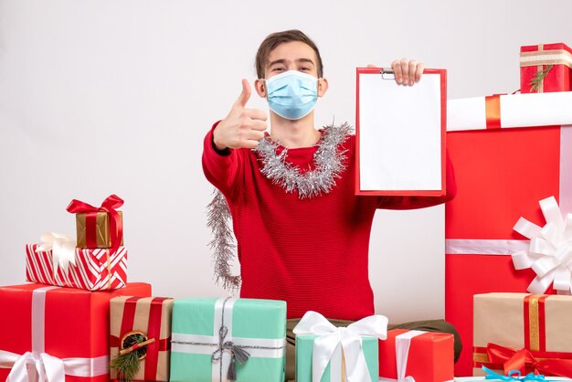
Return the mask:
<svg viewBox="0 0 572 382">
<path fill-rule="evenodd" d="M 122 207 L 123 205 L 123 199 L 119 196 L 116 195 L 111 195 L 108 196 L 105 200 L 103 200 L 103 203 L 101 203 L 101 207 L 93 207 L 87 203 L 84 203 L 82 201 L 79 201 L 77 199 L 73 199 L 70 203 L 69 206 L 66 208 L 68 210 L 68 212 L 71 212 L 72 214 L 79 214 L 81 212 L 86 212 L 88 214 L 93 214 L 93 221 L 91 224 L 93 224 L 93 226 L 95 226 L 95 215 L 98 212 L 107 212 L 110 216 L 110 233 L 111 233 L 111 251 L 110 251 L 110 257 L 117 251 L 117 249 L 119 249 L 119 246 L 122 243 L 122 237 L 123 237 L 123 224 L 122 224 L 122 218 L 119 216 L 119 214 L 117 213 L 117 211 L 115 210 L 115 208 L 119 208 Z M 86 217 L 86 226 L 88 225 L 88 217 Z M 94 230 L 94 229 L 92 229 Z M 88 229 L 88 232 L 86 232 L 86 243 L 88 242 L 88 238 L 90 238 L 90 229 Z M 90 239 L 91 242 L 91 246 L 96 247 L 97 245 L 93 245 L 96 240 L 95 238 Z"/>
</svg>

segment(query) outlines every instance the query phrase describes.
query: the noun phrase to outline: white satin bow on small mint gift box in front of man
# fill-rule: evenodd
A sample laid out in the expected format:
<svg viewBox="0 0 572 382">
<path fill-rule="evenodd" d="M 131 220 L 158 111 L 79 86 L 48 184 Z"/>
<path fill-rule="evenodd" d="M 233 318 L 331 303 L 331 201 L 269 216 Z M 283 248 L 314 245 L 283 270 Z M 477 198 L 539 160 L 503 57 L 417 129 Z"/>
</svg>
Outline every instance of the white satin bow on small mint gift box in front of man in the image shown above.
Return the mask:
<svg viewBox="0 0 572 382">
<path fill-rule="evenodd" d="M 313 382 L 320 382 L 338 345 L 342 345 L 344 350 L 347 382 L 371 382 L 362 350 L 361 336 L 372 335 L 385 340 L 387 338 L 387 317 L 376 314 L 349 324 L 347 327 L 335 327 L 322 314 L 309 311 L 294 327 L 293 332 L 296 335 L 320 335 L 314 340 L 312 347 Z"/>
</svg>

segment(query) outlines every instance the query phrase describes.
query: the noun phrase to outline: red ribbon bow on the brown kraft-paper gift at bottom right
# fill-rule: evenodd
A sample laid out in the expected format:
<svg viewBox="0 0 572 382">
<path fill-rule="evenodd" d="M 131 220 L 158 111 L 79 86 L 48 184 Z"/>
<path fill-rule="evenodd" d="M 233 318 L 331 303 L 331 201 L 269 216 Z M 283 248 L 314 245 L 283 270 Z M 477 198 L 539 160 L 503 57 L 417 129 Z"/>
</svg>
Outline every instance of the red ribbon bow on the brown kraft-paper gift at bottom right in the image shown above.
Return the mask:
<svg viewBox="0 0 572 382">
<path fill-rule="evenodd" d="M 550 353 L 546 352 L 547 356 Z M 543 359 L 537 360 L 530 350 L 523 348 L 515 350 L 511 347 L 488 344 L 487 354 L 492 364 L 502 364 L 504 374 L 508 375 L 511 370 L 520 370 L 524 374 L 535 373 L 553 377 L 572 378 L 572 359 Z M 554 356 L 565 355 L 556 353 Z M 570 356 L 570 354 L 567 354 Z"/>
</svg>

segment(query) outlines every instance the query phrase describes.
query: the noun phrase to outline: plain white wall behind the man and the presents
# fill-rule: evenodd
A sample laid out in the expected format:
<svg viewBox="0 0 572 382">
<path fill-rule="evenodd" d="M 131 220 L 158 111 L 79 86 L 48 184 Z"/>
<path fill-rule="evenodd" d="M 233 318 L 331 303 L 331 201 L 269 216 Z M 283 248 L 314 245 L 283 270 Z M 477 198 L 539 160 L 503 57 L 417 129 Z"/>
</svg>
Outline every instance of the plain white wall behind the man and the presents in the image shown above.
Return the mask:
<svg viewBox="0 0 572 382">
<path fill-rule="evenodd" d="M 99 205 L 115 193 L 132 281 L 155 295 L 223 293 L 207 249 L 202 141 L 240 79 L 255 79 L 271 32 L 300 28 L 321 49 L 331 85 L 321 126 L 355 121 L 355 67 L 395 58 L 449 69 L 450 98 L 517 90 L 519 47 L 572 44 L 570 15 L 569 0 L 0 0 L 0 284 L 24 281 L 26 243 L 75 232 L 72 198 Z M 443 207 L 378 212 L 371 279 L 391 321 L 442 316 L 443 273 L 396 264 L 442 261 L 443 218 Z"/>
</svg>

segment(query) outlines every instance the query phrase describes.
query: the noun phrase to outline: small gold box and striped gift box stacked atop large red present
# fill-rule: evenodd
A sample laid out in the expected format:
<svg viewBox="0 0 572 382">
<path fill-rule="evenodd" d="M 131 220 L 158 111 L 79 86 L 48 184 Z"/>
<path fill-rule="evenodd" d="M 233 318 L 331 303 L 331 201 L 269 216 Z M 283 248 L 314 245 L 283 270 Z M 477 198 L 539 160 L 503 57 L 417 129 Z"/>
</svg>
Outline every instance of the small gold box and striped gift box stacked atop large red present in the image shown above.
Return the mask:
<svg viewBox="0 0 572 382">
<path fill-rule="evenodd" d="M 74 239 L 53 233 L 42 244 L 26 245 L 26 281 L 104 291 L 127 283 L 127 249 L 122 247 L 123 225 L 118 196 L 109 196 L 101 207 L 72 200 L 68 211 L 76 214 Z M 77 247 L 77 248 L 76 248 Z"/>
</svg>

